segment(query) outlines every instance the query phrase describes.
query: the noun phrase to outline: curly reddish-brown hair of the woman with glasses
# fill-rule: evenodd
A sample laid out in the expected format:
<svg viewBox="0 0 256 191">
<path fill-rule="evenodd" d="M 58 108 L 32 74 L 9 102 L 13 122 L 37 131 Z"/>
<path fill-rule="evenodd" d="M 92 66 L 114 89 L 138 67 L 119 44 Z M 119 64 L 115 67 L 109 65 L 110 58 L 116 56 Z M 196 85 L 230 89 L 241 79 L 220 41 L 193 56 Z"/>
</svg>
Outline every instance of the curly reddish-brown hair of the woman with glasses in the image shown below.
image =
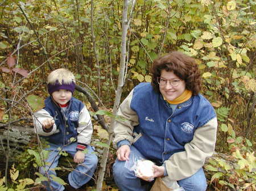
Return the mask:
<svg viewBox="0 0 256 191">
<path fill-rule="evenodd" d="M 160 92 L 157 78 L 160 77 L 162 70 L 173 71 L 177 77 L 185 81 L 187 90 L 192 91 L 193 95 L 199 94 L 201 76 L 197 63 L 193 58 L 175 51 L 154 60 L 151 67 L 151 85 L 156 92 Z"/>
</svg>

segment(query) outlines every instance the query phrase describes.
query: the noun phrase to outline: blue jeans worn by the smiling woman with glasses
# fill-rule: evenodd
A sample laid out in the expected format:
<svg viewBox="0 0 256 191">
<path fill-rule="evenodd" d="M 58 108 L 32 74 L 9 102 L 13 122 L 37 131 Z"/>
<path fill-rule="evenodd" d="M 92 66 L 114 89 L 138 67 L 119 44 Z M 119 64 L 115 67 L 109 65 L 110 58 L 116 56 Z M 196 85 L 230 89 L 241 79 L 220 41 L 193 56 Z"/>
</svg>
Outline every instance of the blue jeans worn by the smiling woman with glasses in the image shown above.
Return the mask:
<svg viewBox="0 0 256 191">
<path fill-rule="evenodd" d="M 131 153 L 136 158 L 146 159 L 134 146 L 131 146 Z M 130 171 L 125 167 L 125 161 L 115 160 L 113 165 L 113 176 L 115 184 L 121 191 L 146 191 L 149 190 L 149 184 L 142 185 L 141 179 L 135 176 L 134 171 Z M 194 175 L 186 179 L 177 181 L 185 191 L 205 191 L 207 182 L 205 179 L 203 168 L 200 168 Z"/>
</svg>

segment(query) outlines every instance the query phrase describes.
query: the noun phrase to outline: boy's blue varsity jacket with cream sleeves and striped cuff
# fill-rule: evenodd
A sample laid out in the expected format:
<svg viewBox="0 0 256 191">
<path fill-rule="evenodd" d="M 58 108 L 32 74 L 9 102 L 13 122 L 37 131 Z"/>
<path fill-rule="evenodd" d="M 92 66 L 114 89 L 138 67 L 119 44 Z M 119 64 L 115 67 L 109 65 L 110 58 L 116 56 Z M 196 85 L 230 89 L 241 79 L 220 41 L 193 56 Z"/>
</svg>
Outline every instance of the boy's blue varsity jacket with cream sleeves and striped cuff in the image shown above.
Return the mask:
<svg viewBox="0 0 256 191">
<path fill-rule="evenodd" d="M 93 126 L 90 114 L 80 100 L 72 97 L 65 112 L 51 96 L 47 97 L 44 104 L 45 107 L 33 116 L 36 133 L 42 135 L 48 142 L 60 146 L 74 140 L 78 142 L 78 150 L 83 150 L 83 146 L 89 145 Z M 41 125 L 46 118 L 55 120 L 51 131 L 45 130 Z"/>
</svg>

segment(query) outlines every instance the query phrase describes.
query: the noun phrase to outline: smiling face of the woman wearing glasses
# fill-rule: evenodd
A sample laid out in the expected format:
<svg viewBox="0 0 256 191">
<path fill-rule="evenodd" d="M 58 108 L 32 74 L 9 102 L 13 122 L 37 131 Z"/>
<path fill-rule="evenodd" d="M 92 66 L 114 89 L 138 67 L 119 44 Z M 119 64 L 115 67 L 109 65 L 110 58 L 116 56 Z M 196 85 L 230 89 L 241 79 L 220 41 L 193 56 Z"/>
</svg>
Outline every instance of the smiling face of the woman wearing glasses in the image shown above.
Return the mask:
<svg viewBox="0 0 256 191">
<path fill-rule="evenodd" d="M 163 82 L 166 82 L 166 84 L 160 83 L 159 90 L 167 100 L 170 100 L 170 101 L 175 100 L 185 91 L 186 84 L 184 80 L 181 80 L 179 77 L 177 77 L 174 74 L 174 72 L 162 70 L 160 78 L 161 80 L 163 80 Z M 174 82 L 174 84 L 178 82 L 177 86 L 176 87 L 172 86 L 171 84 L 172 82 Z"/>
</svg>

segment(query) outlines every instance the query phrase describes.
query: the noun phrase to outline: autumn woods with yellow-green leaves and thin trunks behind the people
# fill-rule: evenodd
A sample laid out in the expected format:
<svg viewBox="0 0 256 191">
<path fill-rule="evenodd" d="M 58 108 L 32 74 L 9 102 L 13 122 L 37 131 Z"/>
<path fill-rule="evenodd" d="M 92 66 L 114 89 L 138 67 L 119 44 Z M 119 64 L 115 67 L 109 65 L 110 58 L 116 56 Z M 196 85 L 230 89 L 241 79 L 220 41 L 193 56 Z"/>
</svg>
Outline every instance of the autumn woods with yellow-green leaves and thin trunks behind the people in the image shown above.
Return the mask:
<svg viewBox="0 0 256 191">
<path fill-rule="evenodd" d="M 76 75 L 75 97 L 94 116 L 92 145 L 100 158 L 108 158 L 86 190 L 117 190 L 111 173 L 114 114 L 135 85 L 151 81 L 152 61 L 171 50 L 196 59 L 201 94 L 216 109 L 216 154 L 205 165 L 209 187 L 256 190 L 255 1 L 1 0 L 0 5 L 0 190 L 40 190 L 43 143 L 31 116 L 48 95 L 48 73 L 60 67 Z M 65 184 L 70 169 L 64 159 L 56 181 Z"/>
</svg>

